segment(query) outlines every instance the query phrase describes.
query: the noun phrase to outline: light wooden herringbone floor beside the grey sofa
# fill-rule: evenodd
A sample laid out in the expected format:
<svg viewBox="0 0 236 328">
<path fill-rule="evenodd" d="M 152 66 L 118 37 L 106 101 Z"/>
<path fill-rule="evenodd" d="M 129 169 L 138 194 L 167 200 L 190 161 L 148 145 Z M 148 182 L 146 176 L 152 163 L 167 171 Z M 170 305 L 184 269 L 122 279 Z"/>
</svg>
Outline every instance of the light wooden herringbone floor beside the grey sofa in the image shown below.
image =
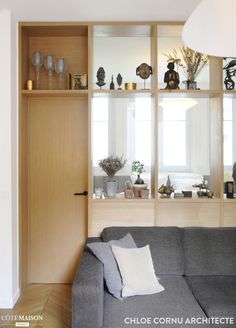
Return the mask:
<svg viewBox="0 0 236 328">
<path fill-rule="evenodd" d="M 25 322 L 19 316 L 34 316 L 36 320 L 26 320 L 33 328 L 71 328 L 71 285 L 29 286 L 14 309 L 0 309 L 0 328 Z M 43 320 L 37 320 L 39 316 Z"/>
</svg>

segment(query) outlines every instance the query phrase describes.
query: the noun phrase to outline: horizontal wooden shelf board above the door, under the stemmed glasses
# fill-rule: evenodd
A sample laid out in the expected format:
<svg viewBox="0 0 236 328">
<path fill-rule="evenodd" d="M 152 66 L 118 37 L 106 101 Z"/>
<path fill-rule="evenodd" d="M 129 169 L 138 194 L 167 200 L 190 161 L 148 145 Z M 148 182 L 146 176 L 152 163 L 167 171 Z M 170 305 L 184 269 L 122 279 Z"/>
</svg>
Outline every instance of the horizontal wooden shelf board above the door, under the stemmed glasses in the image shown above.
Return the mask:
<svg viewBox="0 0 236 328">
<path fill-rule="evenodd" d="M 22 90 L 26 97 L 87 97 L 88 90 Z"/>
</svg>

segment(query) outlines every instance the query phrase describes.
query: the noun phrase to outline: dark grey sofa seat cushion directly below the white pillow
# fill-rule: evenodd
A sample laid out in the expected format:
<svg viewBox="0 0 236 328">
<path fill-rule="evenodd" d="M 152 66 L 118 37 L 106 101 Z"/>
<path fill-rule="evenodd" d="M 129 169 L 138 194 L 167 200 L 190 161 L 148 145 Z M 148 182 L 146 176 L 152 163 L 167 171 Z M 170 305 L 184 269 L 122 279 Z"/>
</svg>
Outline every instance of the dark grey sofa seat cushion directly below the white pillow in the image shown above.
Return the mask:
<svg viewBox="0 0 236 328">
<path fill-rule="evenodd" d="M 184 324 L 186 318 L 205 318 L 205 314 L 193 297 L 185 279 L 181 276 L 160 276 L 165 290 L 160 294 L 133 296 L 119 302 L 110 294 L 104 295 L 103 328 L 127 327 L 185 327 L 201 325 Z M 156 318 L 156 319 L 155 319 Z M 179 319 L 175 324 L 161 324 L 157 320 Z M 181 321 L 183 318 L 183 322 Z M 133 320 L 133 323 L 132 321 Z M 134 323 L 134 320 L 136 323 Z M 150 323 L 138 323 L 149 320 Z M 156 321 L 155 321 L 156 320 Z M 204 328 L 208 327 L 204 325 Z"/>
</svg>

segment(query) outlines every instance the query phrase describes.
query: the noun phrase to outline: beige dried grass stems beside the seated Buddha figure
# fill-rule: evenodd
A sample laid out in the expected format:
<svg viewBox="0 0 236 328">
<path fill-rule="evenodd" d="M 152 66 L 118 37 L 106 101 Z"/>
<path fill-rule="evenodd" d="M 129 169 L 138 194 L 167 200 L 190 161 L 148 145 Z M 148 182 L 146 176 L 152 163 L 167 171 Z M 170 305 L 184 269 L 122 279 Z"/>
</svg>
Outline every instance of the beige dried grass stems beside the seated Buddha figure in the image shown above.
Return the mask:
<svg viewBox="0 0 236 328">
<path fill-rule="evenodd" d="M 173 62 L 182 70 L 189 82 L 196 81 L 199 73 L 208 63 L 209 57 L 184 46 L 180 48 L 180 53 L 184 64 L 181 62 L 181 58 L 179 58 L 179 54 L 175 49 L 172 54 L 163 55 L 168 58 L 168 62 Z"/>
</svg>

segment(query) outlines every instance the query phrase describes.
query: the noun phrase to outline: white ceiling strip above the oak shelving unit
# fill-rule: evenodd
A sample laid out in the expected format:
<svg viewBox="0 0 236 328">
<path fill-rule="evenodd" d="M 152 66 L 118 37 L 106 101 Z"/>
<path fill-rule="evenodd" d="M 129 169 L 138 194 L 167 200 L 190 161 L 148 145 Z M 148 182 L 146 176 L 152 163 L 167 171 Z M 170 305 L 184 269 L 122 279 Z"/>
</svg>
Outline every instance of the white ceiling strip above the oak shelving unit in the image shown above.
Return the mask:
<svg viewBox="0 0 236 328">
<path fill-rule="evenodd" d="M 17 21 L 185 21 L 200 0 L 0 0 Z"/>
</svg>

